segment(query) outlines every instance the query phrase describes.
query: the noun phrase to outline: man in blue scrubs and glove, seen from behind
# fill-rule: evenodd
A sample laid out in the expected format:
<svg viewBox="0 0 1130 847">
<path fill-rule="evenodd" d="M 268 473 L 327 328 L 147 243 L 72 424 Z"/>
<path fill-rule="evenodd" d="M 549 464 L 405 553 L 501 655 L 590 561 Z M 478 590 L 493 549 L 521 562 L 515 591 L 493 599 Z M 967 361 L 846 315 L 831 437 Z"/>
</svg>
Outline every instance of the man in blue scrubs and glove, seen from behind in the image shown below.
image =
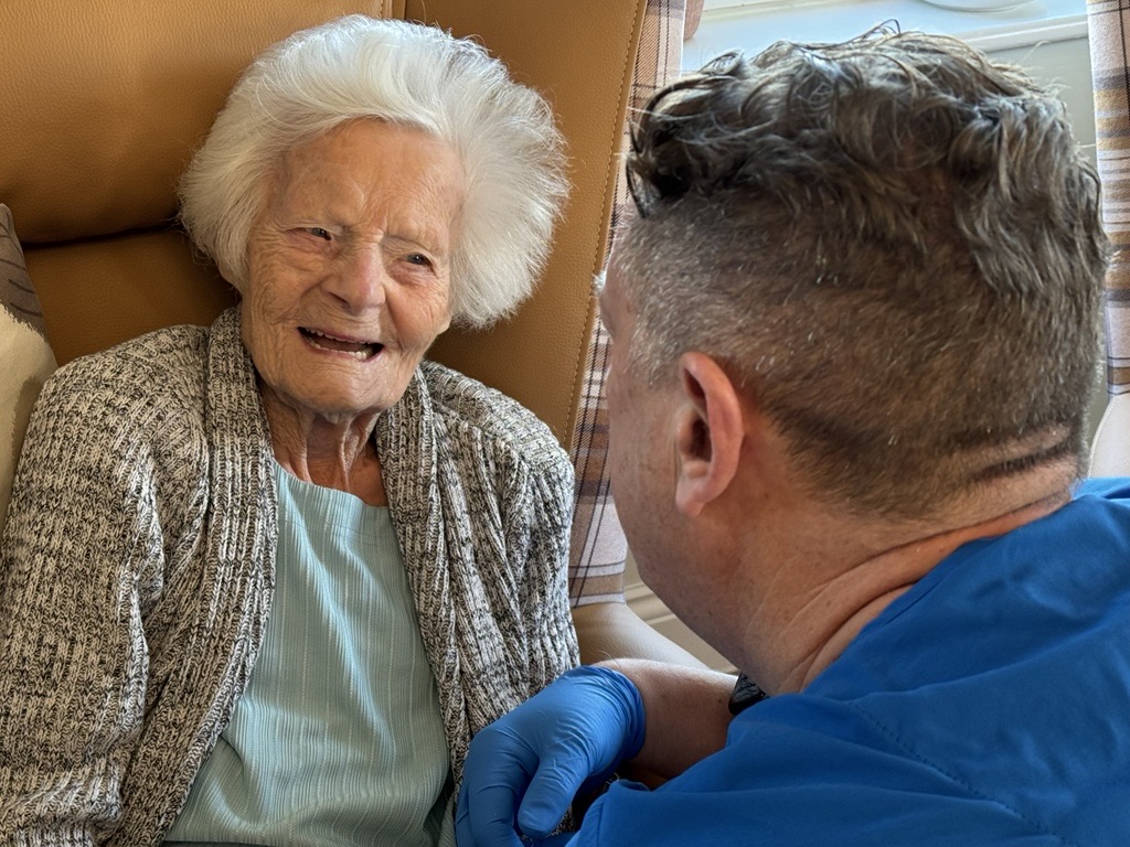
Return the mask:
<svg viewBox="0 0 1130 847">
<path fill-rule="evenodd" d="M 1061 104 L 880 30 L 716 60 L 635 142 L 617 508 L 768 697 L 570 672 L 472 742 L 460 844 L 1127 844 L 1130 482 L 1080 482 L 1109 247 Z M 551 835 L 625 765 L 669 779 Z"/>
</svg>

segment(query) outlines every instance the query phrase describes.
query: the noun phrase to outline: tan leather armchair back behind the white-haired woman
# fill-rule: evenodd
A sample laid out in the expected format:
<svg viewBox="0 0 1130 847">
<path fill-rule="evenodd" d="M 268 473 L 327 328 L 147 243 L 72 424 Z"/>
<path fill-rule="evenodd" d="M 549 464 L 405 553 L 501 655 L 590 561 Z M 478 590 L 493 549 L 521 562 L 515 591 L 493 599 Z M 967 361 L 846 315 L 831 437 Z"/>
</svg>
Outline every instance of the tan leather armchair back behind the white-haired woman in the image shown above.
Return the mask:
<svg viewBox="0 0 1130 847">
<path fill-rule="evenodd" d="M 0 6 L 0 202 L 60 365 L 234 300 L 172 226 L 174 187 L 249 60 L 353 11 L 478 37 L 546 94 L 574 185 L 534 297 L 433 356 L 518 398 L 568 445 L 645 0 L 103 0 Z"/>
</svg>

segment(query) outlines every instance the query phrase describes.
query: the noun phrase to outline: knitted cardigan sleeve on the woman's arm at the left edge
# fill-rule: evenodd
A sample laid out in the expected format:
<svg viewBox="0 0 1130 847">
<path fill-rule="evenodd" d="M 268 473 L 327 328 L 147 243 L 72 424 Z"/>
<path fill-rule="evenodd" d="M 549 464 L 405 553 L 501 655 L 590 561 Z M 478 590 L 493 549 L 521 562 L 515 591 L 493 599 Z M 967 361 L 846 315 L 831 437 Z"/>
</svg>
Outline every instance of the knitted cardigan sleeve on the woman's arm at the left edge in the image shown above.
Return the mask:
<svg viewBox="0 0 1130 847">
<path fill-rule="evenodd" d="M 107 364 L 108 363 L 108 364 Z M 94 844 L 120 812 L 160 588 L 158 404 L 113 365 L 44 387 L 0 548 L 0 842 Z M 137 384 L 134 381 L 132 384 Z"/>
</svg>

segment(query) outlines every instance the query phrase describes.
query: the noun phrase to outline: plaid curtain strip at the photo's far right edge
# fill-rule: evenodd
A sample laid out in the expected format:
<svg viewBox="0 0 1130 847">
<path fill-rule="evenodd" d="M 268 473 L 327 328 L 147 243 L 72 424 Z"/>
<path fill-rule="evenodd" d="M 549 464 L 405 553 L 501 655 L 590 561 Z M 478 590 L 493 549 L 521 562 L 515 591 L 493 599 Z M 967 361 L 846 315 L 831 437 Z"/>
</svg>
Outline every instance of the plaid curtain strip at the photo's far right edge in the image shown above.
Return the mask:
<svg viewBox="0 0 1130 847">
<path fill-rule="evenodd" d="M 1088 0 L 1103 224 L 1114 245 L 1106 276 L 1106 384 L 1130 392 L 1130 0 Z"/>
</svg>

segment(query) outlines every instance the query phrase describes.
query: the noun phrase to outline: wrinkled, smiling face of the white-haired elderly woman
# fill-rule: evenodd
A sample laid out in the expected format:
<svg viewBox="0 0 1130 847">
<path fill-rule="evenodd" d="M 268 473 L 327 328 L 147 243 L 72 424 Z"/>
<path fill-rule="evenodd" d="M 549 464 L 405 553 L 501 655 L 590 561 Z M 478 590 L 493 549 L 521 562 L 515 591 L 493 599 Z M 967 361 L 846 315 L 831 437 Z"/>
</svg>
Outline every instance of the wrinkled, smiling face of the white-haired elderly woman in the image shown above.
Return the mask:
<svg viewBox="0 0 1130 847">
<path fill-rule="evenodd" d="M 330 420 L 393 405 L 451 321 L 462 199 L 455 152 L 420 130 L 356 121 L 292 149 L 242 291 L 264 395 Z"/>
</svg>

